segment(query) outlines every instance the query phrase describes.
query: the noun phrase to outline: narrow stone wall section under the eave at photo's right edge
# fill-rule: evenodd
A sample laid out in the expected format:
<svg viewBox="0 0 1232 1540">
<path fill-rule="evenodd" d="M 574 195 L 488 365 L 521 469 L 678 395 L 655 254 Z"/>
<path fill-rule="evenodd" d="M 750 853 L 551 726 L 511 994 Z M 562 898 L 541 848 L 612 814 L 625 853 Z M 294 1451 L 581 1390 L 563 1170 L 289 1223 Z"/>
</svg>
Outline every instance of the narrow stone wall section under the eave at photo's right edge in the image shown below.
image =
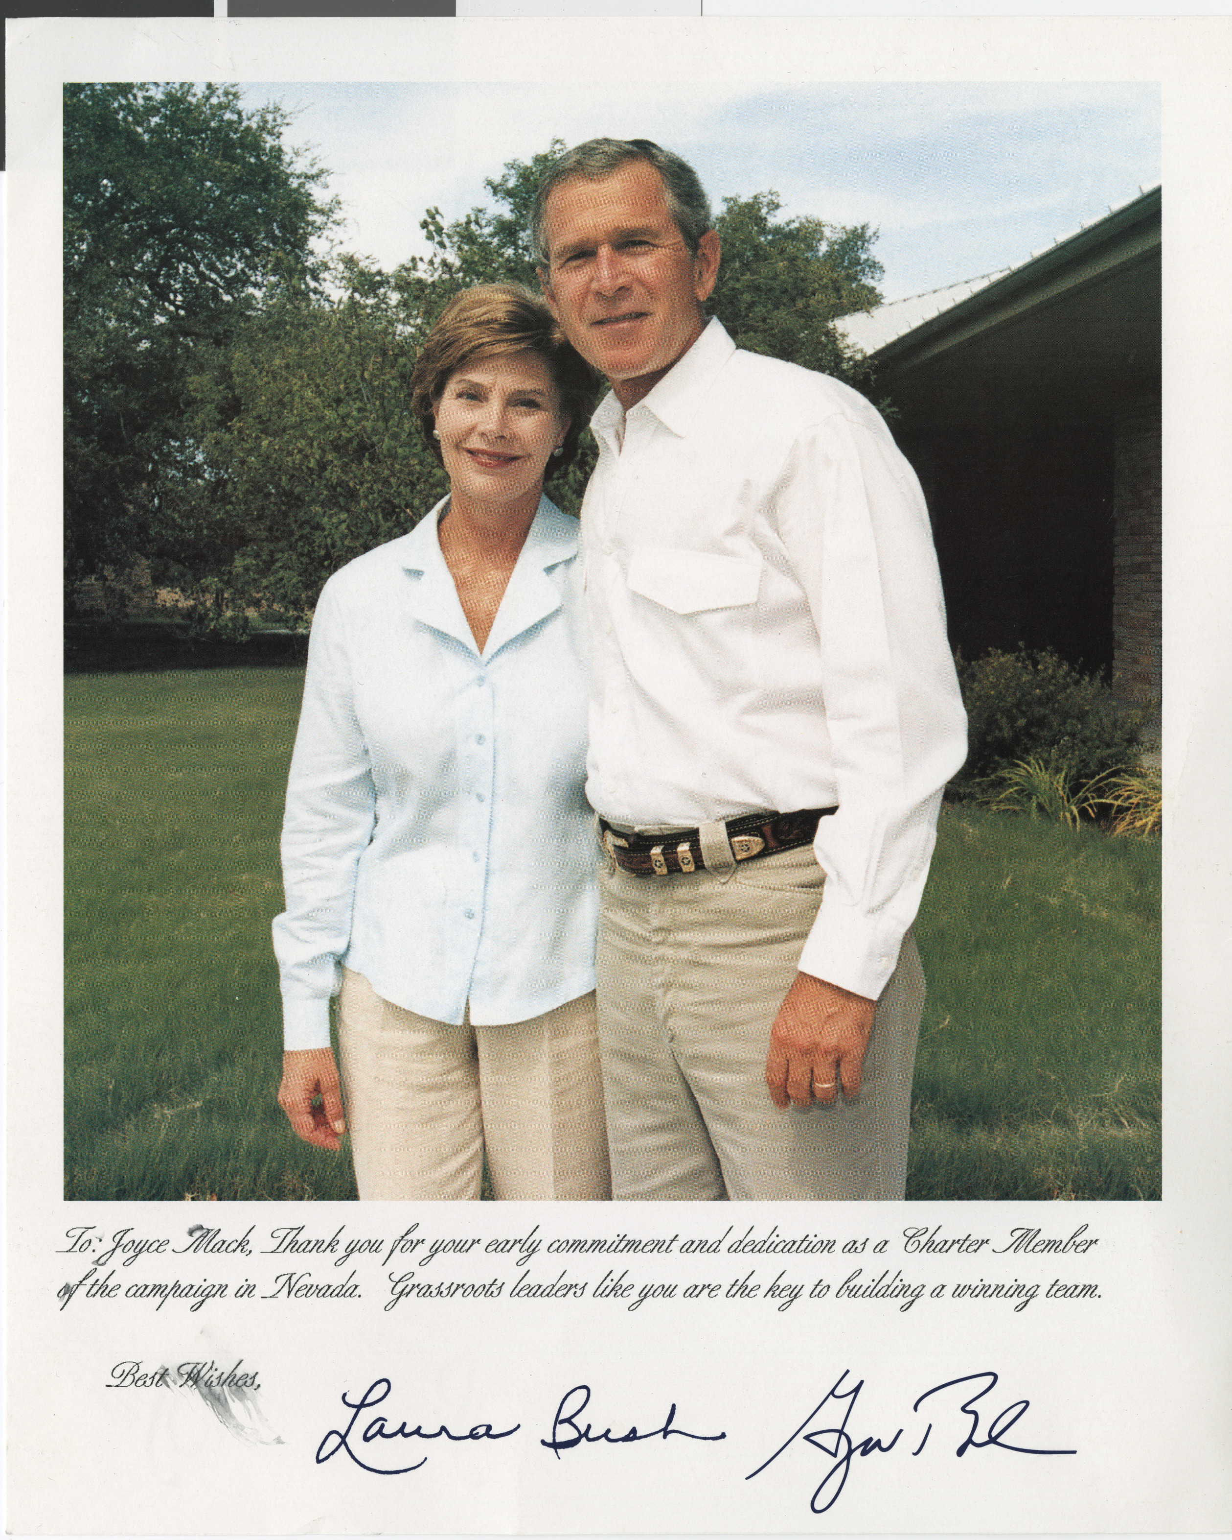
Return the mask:
<svg viewBox="0 0 1232 1540">
<path fill-rule="evenodd" d="M 1160 402 L 1140 400 L 1114 430 L 1112 688 L 1127 705 L 1163 690 L 1163 474 Z"/>
</svg>

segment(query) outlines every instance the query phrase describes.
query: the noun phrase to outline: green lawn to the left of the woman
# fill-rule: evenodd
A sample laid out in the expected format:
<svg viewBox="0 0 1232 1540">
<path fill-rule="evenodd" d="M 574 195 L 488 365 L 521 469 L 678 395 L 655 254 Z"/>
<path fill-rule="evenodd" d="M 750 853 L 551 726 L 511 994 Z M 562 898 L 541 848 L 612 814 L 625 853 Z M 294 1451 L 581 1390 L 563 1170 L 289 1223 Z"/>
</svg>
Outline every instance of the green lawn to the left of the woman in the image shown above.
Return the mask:
<svg viewBox="0 0 1232 1540">
<path fill-rule="evenodd" d="M 303 673 L 65 681 L 65 1195 L 354 1198 L 289 1137 L 269 922 Z"/>
</svg>

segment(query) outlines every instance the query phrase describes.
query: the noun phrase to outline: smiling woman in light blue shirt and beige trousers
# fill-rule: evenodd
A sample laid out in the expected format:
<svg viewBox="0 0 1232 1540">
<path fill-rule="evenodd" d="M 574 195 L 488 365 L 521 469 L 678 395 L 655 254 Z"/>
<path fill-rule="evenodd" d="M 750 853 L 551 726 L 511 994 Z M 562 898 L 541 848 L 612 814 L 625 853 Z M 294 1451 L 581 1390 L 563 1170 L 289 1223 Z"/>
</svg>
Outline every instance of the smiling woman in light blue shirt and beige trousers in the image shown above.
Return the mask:
<svg viewBox="0 0 1232 1540">
<path fill-rule="evenodd" d="M 323 1149 L 349 1126 L 360 1198 L 478 1198 L 484 1150 L 497 1198 L 609 1198 L 577 522 L 543 496 L 594 376 L 494 283 L 449 303 L 411 383 L 449 496 L 312 621 L 278 1101 Z"/>
</svg>

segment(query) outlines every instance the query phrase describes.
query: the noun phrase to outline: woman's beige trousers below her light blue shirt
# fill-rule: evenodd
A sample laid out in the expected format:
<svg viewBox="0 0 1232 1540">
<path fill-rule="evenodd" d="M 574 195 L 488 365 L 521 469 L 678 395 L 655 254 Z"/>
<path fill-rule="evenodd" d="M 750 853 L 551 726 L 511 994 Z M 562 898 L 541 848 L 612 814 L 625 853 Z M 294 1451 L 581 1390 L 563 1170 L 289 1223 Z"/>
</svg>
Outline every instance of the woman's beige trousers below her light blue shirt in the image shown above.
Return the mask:
<svg viewBox="0 0 1232 1540">
<path fill-rule="evenodd" d="M 611 1198 L 594 995 L 454 1027 L 343 969 L 338 1047 L 360 1198 L 477 1200 L 484 1150 L 497 1198 Z"/>
</svg>

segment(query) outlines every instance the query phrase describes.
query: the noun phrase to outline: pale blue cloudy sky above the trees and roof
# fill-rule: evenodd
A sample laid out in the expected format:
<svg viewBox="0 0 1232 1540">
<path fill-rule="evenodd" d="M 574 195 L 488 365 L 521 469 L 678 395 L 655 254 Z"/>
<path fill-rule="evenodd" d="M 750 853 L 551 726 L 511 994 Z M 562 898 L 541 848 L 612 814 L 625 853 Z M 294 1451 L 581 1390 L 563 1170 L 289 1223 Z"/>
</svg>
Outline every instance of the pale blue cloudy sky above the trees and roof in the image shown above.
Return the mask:
<svg viewBox="0 0 1232 1540">
<path fill-rule="evenodd" d="M 345 205 L 345 245 L 394 266 L 429 205 L 486 203 L 484 177 L 552 137 L 654 139 L 715 205 L 774 188 L 784 214 L 869 223 L 886 299 L 1020 262 L 1160 180 L 1160 95 L 1138 83 L 254 83 L 297 112 Z"/>
</svg>

